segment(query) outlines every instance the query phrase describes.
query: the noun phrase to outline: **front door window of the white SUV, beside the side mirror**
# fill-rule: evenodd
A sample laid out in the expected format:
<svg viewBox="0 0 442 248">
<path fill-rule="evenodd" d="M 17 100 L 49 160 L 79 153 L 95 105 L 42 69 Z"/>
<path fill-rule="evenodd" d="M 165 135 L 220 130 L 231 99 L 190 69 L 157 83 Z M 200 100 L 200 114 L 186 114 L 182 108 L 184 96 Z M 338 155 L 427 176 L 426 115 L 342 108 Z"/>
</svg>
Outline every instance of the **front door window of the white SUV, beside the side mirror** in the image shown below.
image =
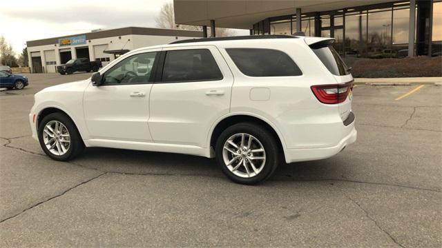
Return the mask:
<svg viewBox="0 0 442 248">
<path fill-rule="evenodd" d="M 135 54 L 104 72 L 103 85 L 148 83 L 157 52 Z"/>
</svg>

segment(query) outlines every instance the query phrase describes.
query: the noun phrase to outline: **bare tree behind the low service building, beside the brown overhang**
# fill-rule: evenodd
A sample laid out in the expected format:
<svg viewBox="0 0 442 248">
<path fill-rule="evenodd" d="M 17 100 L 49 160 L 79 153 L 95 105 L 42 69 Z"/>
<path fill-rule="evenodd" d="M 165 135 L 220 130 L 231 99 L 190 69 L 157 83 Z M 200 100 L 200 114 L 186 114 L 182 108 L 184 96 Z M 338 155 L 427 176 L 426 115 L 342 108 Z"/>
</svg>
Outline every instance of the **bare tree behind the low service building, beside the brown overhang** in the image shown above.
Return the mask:
<svg viewBox="0 0 442 248">
<path fill-rule="evenodd" d="M 164 3 L 155 22 L 159 28 L 202 31 L 201 26 L 176 24 L 173 3 Z M 210 33 L 210 28 L 208 28 L 208 32 Z M 228 28 L 216 28 L 215 34 L 217 37 L 227 37 L 232 36 L 234 32 Z"/>
</svg>

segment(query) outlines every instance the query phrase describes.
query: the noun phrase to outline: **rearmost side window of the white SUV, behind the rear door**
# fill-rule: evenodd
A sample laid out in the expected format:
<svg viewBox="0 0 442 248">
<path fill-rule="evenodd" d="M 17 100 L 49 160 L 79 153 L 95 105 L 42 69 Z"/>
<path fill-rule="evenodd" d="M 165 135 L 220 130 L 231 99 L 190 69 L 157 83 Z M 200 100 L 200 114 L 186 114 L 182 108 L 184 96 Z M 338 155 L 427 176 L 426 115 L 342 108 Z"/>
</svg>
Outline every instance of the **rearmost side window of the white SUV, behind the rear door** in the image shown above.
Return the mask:
<svg viewBox="0 0 442 248">
<path fill-rule="evenodd" d="M 238 69 L 247 76 L 300 76 L 298 65 L 285 52 L 260 48 L 227 48 Z"/>
</svg>

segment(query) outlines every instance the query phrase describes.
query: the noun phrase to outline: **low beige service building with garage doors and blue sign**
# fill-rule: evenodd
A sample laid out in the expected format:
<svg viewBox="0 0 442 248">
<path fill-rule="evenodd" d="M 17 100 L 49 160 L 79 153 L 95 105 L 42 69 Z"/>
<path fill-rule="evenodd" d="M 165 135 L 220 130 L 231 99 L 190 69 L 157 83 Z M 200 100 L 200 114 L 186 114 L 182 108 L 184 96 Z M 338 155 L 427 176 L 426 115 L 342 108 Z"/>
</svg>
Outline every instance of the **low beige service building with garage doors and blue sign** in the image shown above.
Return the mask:
<svg viewBox="0 0 442 248">
<path fill-rule="evenodd" d="M 202 37 L 202 32 L 162 28 L 116 28 L 67 37 L 27 41 L 32 73 L 56 72 L 57 65 L 70 59 L 99 60 L 103 65 L 130 50 L 181 39 Z"/>
</svg>

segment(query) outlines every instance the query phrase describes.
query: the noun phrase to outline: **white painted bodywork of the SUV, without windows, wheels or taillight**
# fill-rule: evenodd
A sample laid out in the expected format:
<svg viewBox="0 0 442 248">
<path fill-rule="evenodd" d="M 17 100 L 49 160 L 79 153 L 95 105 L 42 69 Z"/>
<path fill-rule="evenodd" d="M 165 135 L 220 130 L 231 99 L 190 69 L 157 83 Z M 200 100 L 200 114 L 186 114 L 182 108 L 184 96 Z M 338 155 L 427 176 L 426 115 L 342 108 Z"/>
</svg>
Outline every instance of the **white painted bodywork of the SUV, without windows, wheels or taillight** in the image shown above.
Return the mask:
<svg viewBox="0 0 442 248">
<path fill-rule="evenodd" d="M 48 87 L 35 94 L 30 112 L 32 136 L 37 138 L 34 115 L 48 107 L 73 119 L 87 147 L 114 147 L 213 157 L 211 135 L 229 116 L 259 118 L 278 135 L 287 163 L 334 156 L 356 141 L 354 122 L 343 121 L 351 111 L 351 97 L 343 103 L 320 103 L 311 85 L 347 83 L 351 75 L 334 76 L 307 44 L 327 39 L 266 39 L 179 43 L 128 52 L 106 65 L 141 52 L 206 48 L 223 79 L 186 83 L 94 86 L 91 79 Z M 275 44 L 278 45 L 275 45 Z M 268 48 L 285 52 L 302 76 L 250 77 L 242 74 L 226 48 Z M 143 97 L 133 97 L 142 92 Z M 210 93 L 213 94 L 210 94 Z M 37 118 L 38 119 L 38 118 Z"/>
</svg>

